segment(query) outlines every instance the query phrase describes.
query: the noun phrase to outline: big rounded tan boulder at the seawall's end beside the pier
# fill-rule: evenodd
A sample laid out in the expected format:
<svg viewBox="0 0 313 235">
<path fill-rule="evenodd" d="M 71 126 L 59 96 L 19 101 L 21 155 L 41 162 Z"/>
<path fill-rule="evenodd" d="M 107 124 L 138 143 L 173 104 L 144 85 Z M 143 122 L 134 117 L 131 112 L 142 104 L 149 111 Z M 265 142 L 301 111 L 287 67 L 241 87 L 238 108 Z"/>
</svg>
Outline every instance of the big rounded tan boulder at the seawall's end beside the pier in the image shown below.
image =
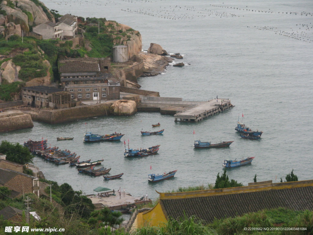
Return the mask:
<svg viewBox="0 0 313 235">
<path fill-rule="evenodd" d="M 110 114 L 115 116 L 131 116 L 135 112 L 137 112 L 137 105 L 133 100 L 118 100 L 110 107 Z"/>
</svg>

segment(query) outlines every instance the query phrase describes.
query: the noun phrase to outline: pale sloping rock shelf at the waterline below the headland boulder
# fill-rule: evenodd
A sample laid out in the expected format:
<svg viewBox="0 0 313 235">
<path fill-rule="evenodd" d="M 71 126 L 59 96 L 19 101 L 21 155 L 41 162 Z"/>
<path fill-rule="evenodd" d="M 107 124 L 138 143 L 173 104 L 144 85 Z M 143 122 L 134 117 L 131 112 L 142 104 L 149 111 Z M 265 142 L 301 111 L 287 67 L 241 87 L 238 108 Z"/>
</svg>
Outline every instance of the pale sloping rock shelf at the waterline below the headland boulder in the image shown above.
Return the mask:
<svg viewBox="0 0 313 235">
<path fill-rule="evenodd" d="M 143 59 L 144 76 L 156 76 L 165 70 L 165 66 L 169 65 L 173 59 L 145 52 L 139 52 L 138 56 Z"/>
</svg>

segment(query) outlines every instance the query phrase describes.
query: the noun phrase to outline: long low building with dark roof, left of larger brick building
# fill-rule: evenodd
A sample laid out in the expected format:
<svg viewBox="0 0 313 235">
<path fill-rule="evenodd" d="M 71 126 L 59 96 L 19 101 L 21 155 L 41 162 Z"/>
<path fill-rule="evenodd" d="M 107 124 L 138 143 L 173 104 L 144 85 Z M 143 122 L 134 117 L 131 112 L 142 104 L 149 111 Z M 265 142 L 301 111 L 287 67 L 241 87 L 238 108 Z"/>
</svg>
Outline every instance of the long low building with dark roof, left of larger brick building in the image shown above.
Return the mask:
<svg viewBox="0 0 313 235">
<path fill-rule="evenodd" d="M 74 107 L 69 92 L 51 86 L 27 86 L 22 89 L 24 105 L 32 107 L 69 108 Z"/>
</svg>

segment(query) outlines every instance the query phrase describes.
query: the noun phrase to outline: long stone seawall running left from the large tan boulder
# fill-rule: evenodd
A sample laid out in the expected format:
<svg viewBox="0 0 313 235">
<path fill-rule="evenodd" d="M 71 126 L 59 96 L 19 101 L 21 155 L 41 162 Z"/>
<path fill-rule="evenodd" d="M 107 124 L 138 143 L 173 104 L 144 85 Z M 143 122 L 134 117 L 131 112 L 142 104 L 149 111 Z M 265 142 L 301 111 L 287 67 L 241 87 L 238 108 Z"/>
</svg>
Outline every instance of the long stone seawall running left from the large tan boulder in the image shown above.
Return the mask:
<svg viewBox="0 0 313 235">
<path fill-rule="evenodd" d="M 107 102 L 57 110 L 42 110 L 38 115 L 32 115 L 32 117 L 34 116 L 33 118 L 37 121 L 55 124 L 76 121 L 84 118 L 108 116 L 109 108 L 112 104 L 113 102 Z"/>
</svg>

